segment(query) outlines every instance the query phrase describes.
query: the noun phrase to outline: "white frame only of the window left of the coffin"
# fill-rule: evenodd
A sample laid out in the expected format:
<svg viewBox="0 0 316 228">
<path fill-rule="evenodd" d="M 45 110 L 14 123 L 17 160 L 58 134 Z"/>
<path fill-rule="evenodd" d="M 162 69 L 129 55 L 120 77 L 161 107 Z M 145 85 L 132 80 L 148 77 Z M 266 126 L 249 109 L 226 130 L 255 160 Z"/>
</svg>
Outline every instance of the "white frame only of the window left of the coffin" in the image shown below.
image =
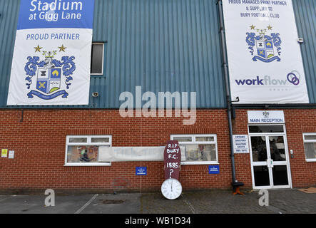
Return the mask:
<svg viewBox="0 0 316 228">
<path fill-rule="evenodd" d="M 69 138 L 87 138 L 87 142 L 69 142 Z M 108 138 L 108 142 L 91 142 L 91 138 Z M 112 146 L 112 135 L 67 135 L 64 166 L 111 166 L 111 162 L 67 162 L 69 145 Z M 99 151 L 100 152 L 100 151 Z"/>
</svg>

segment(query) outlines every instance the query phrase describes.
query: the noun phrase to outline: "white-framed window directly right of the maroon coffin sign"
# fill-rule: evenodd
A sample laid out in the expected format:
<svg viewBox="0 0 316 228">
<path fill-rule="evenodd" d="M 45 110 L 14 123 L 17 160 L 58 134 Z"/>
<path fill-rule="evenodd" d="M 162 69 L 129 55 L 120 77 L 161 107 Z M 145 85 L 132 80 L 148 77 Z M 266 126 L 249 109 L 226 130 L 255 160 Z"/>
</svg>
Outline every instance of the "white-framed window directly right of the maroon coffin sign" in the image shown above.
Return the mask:
<svg viewBox="0 0 316 228">
<path fill-rule="evenodd" d="M 185 147 L 183 165 L 218 164 L 218 145 L 216 135 L 171 135 Z"/>
</svg>

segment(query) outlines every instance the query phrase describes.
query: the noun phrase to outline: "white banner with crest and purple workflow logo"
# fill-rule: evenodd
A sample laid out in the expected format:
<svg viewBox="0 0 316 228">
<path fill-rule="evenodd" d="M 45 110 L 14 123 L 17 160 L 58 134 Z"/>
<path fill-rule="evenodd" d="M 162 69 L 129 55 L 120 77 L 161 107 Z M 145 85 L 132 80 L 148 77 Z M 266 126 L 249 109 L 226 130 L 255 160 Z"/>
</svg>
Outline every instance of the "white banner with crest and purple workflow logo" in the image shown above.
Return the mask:
<svg viewBox="0 0 316 228">
<path fill-rule="evenodd" d="M 291 0 L 223 0 L 232 98 L 309 103 Z"/>
</svg>

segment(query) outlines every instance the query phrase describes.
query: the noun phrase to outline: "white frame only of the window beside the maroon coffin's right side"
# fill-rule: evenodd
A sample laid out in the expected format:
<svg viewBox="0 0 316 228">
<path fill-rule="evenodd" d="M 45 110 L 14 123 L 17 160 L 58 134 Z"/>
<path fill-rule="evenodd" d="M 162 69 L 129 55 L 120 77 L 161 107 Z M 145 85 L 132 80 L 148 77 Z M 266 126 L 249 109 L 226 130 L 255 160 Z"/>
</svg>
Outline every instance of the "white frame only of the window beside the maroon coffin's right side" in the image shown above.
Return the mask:
<svg viewBox="0 0 316 228">
<path fill-rule="evenodd" d="M 170 135 L 170 140 L 173 140 L 175 137 L 191 137 L 192 142 L 179 142 L 179 145 L 190 145 L 190 144 L 213 144 L 215 145 L 216 161 L 201 161 L 201 162 L 181 162 L 181 165 L 219 165 L 218 162 L 218 138 L 216 134 L 206 134 L 206 135 Z M 214 141 L 198 141 L 196 142 L 195 138 L 198 137 L 213 137 Z"/>
</svg>

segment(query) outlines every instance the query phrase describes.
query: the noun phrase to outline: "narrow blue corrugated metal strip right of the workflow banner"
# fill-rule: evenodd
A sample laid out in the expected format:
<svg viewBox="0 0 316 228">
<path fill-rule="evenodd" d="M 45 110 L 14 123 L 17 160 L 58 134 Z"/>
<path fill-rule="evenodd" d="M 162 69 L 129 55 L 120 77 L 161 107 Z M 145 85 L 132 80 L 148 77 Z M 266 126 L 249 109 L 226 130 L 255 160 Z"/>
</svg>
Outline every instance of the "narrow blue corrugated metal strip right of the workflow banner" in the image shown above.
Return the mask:
<svg viewBox="0 0 316 228">
<path fill-rule="evenodd" d="M 292 0 L 310 103 L 316 103 L 316 0 Z"/>
</svg>

